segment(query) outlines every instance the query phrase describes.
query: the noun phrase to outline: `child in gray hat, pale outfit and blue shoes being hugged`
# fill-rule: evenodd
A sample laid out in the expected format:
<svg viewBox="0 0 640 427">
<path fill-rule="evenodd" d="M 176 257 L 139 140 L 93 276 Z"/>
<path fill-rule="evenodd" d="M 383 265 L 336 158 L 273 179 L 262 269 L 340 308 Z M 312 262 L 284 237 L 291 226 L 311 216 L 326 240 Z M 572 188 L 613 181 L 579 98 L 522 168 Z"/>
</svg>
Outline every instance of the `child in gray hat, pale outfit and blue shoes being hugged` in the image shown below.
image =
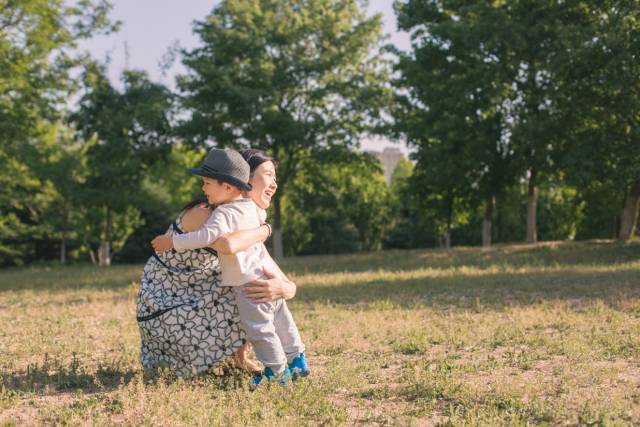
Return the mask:
<svg viewBox="0 0 640 427">
<path fill-rule="evenodd" d="M 263 209 L 243 197 L 243 191 L 250 191 L 251 185 L 249 165 L 240 153 L 213 149 L 201 167 L 188 171 L 202 176 L 202 190 L 209 204 L 217 208 L 198 231 L 156 237 L 151 244 L 157 252 L 207 247 L 224 234 L 259 227 L 266 219 Z M 286 302 L 278 299 L 255 303 L 241 289 L 255 279 L 265 278 L 262 245 L 253 245 L 232 255 L 219 254 L 219 260 L 222 285 L 233 287 L 247 338 L 258 360 L 266 367 L 264 377 L 279 378 L 280 383 L 285 384 L 289 377 L 308 375 L 304 344 Z M 254 377 L 252 387 L 258 386 L 262 379 L 262 375 Z"/>
</svg>

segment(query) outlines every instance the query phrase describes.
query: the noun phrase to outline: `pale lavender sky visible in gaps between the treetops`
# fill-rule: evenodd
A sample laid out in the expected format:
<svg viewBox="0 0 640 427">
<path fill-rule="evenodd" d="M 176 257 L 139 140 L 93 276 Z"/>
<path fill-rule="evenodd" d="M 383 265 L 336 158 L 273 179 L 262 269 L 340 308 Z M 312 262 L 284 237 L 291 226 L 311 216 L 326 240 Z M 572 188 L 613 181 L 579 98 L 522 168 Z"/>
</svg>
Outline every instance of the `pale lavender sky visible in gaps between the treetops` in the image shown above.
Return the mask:
<svg viewBox="0 0 640 427">
<path fill-rule="evenodd" d="M 176 43 L 183 48 L 198 45 L 192 33 L 192 24 L 211 12 L 218 3 L 214 0 L 113 0 L 111 16 L 121 22 L 120 31 L 109 36 L 98 36 L 84 41 L 81 48 L 89 50 L 95 58 L 109 57 L 109 76 L 117 82 L 126 68 L 142 69 L 156 81 L 174 87 L 174 78 L 184 72 L 175 61 L 163 72 L 160 64 L 167 51 Z M 381 13 L 384 32 L 389 41 L 401 49 L 409 48 L 409 36 L 398 32 L 393 12 L 393 0 L 369 0 L 368 14 Z M 362 141 L 362 148 L 381 151 L 384 147 L 397 147 L 408 153 L 402 143 L 385 139 Z"/>
</svg>

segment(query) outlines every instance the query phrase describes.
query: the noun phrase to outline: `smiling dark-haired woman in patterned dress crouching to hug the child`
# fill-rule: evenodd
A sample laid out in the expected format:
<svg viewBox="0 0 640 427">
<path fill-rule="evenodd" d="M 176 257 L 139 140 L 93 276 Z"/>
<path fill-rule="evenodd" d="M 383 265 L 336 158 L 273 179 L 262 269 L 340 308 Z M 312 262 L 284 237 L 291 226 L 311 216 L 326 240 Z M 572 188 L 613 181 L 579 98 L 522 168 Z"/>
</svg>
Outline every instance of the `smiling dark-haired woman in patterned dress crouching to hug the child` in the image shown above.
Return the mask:
<svg viewBox="0 0 640 427">
<path fill-rule="evenodd" d="M 242 153 L 251 169 L 252 190 L 247 194 L 263 209 L 277 189 L 276 163 L 260 150 Z M 168 233 L 199 229 L 211 214 L 203 200 L 187 205 Z M 215 251 L 235 253 L 263 242 L 271 227 L 263 225 L 224 236 L 212 249 L 169 251 L 153 254 L 144 267 L 137 298 L 142 365 L 167 366 L 180 375 L 204 372 L 228 356 L 250 371 L 258 370 L 246 357 L 248 343 L 239 325 L 231 288 L 220 286 L 220 267 Z M 265 274 L 246 291 L 257 302 L 293 298 L 296 286 L 270 260 Z"/>
</svg>

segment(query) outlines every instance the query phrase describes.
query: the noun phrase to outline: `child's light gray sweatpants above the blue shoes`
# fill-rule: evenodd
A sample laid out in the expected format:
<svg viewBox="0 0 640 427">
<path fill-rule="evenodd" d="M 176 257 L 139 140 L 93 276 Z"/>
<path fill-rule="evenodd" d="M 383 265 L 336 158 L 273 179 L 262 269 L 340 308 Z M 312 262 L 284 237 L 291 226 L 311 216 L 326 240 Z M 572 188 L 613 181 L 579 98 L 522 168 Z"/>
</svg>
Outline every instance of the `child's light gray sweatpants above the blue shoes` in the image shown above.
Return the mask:
<svg viewBox="0 0 640 427">
<path fill-rule="evenodd" d="M 253 344 L 256 357 L 278 374 L 287 362 L 304 351 L 298 327 L 284 299 L 255 303 L 243 295 L 242 286 L 234 286 L 240 321 Z"/>
</svg>

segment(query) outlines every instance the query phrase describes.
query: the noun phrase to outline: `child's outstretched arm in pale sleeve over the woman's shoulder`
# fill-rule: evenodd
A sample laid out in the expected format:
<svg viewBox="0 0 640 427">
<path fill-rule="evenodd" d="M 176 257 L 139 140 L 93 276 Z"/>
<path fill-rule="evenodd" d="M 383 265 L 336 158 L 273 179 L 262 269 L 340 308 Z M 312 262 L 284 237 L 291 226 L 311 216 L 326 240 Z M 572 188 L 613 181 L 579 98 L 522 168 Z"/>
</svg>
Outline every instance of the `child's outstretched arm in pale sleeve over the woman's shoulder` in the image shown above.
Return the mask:
<svg viewBox="0 0 640 427">
<path fill-rule="evenodd" d="M 172 248 L 199 249 L 209 246 L 230 231 L 231 215 L 225 209 L 218 207 L 199 230 L 173 236 L 160 235 L 153 239 L 151 245 L 156 252 L 165 252 Z"/>
</svg>

